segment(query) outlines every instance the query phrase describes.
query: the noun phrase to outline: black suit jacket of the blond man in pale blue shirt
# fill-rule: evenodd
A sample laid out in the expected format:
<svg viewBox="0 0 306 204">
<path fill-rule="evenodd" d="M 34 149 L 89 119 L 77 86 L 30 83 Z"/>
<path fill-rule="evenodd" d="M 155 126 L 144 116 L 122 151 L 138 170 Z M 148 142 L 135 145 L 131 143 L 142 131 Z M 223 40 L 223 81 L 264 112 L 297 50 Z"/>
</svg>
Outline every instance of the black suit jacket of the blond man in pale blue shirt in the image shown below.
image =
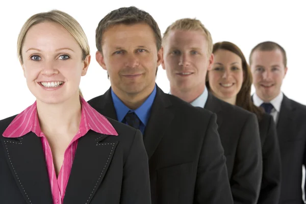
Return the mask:
<svg viewBox="0 0 306 204">
<path fill-rule="evenodd" d="M 217 114 L 234 203 L 256 204 L 262 180 L 262 151 L 256 115 L 211 93 L 204 108 Z"/>
</svg>

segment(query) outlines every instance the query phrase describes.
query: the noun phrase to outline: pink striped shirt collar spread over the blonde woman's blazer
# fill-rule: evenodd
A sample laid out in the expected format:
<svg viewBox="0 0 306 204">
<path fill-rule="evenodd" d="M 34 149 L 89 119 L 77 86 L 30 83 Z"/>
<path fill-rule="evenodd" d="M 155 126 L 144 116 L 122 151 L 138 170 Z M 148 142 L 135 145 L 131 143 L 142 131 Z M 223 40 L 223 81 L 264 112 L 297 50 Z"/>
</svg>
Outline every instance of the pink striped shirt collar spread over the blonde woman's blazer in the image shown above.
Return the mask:
<svg viewBox="0 0 306 204">
<path fill-rule="evenodd" d="M 89 130 L 100 134 L 118 135 L 106 117 L 93 109 L 81 96 L 80 100 L 82 113 L 79 131 L 82 135 L 85 135 Z M 3 136 L 17 138 L 28 134 L 31 131 L 37 136 L 41 136 L 36 101 L 33 105 L 29 106 L 13 119 L 13 121 L 4 131 Z"/>
</svg>

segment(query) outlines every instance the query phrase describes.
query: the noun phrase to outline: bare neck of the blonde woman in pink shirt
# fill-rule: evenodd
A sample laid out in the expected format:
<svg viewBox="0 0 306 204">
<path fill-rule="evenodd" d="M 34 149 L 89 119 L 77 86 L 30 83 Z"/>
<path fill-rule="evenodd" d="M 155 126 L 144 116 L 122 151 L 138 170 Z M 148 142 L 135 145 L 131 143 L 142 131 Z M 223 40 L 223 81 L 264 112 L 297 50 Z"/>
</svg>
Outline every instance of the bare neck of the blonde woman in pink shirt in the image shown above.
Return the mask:
<svg viewBox="0 0 306 204">
<path fill-rule="evenodd" d="M 80 96 L 76 95 L 60 104 L 46 104 L 37 100 L 37 113 L 41 131 L 46 137 L 77 134 L 81 122 Z"/>
</svg>

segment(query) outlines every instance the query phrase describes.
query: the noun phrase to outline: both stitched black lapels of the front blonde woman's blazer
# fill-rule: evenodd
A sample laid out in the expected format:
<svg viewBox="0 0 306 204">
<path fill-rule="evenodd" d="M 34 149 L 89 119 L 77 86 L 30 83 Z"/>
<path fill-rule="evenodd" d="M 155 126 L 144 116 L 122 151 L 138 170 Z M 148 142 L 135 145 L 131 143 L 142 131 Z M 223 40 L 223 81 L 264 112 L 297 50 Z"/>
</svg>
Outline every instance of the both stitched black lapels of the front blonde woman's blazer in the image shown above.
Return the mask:
<svg viewBox="0 0 306 204">
<path fill-rule="evenodd" d="M 103 181 L 117 146 L 117 142 L 103 143 L 107 137 L 89 131 L 79 139 L 64 203 L 85 203 L 92 199 L 96 187 Z M 24 199 L 28 203 L 52 204 L 41 139 L 30 132 L 19 138 L 1 137 L 1 140 L 8 165 Z M 75 196 L 75 192 L 78 192 L 78 196 Z"/>
</svg>

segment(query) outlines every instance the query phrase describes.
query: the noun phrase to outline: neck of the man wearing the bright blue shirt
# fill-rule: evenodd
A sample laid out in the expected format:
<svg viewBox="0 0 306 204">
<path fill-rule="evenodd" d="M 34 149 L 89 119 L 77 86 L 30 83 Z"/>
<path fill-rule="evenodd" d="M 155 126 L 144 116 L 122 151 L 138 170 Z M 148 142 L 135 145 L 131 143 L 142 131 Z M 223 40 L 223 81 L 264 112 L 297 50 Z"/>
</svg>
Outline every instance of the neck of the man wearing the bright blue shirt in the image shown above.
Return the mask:
<svg viewBox="0 0 306 204">
<path fill-rule="evenodd" d="M 112 90 L 118 96 L 118 98 L 120 98 L 120 100 L 123 102 L 123 104 L 127 108 L 136 110 L 149 97 L 149 95 L 152 93 L 154 88 L 155 88 L 155 83 L 153 86 L 149 86 L 145 90 L 138 92 L 138 93 L 133 93 L 133 94 L 121 91 L 117 89 L 116 87 L 112 87 Z"/>
</svg>

